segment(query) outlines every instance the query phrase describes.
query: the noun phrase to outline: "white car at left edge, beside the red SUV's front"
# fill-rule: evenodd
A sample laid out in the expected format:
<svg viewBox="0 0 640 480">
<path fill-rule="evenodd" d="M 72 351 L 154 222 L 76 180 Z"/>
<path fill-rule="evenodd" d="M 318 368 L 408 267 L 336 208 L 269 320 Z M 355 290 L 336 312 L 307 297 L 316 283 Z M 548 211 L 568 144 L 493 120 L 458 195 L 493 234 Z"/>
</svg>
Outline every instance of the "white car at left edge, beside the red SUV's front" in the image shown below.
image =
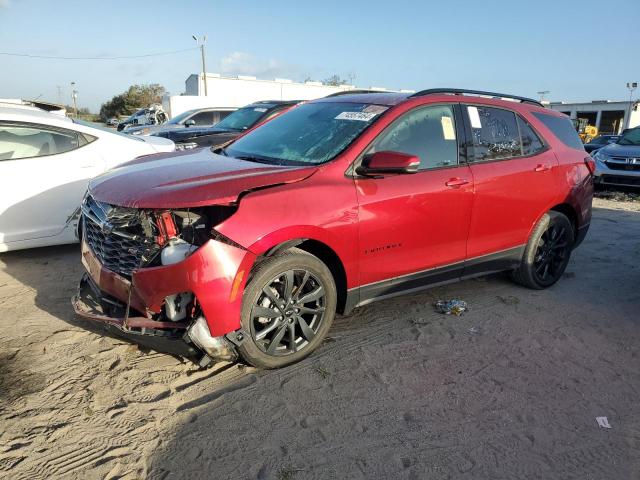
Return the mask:
<svg viewBox="0 0 640 480">
<path fill-rule="evenodd" d="M 89 179 L 142 155 L 172 152 L 27 105 L 0 102 L 0 252 L 73 243 Z"/>
</svg>

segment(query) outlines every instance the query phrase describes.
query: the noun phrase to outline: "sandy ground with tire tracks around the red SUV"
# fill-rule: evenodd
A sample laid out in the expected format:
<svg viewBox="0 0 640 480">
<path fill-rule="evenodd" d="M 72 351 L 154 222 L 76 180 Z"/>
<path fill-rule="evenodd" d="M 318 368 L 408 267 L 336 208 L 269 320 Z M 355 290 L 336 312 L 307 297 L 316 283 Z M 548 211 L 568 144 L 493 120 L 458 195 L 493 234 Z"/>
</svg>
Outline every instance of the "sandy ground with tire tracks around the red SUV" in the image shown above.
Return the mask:
<svg viewBox="0 0 640 480">
<path fill-rule="evenodd" d="M 277 371 L 84 329 L 77 246 L 1 255 L 0 478 L 640 478 L 640 203 L 594 207 L 553 288 L 369 305 Z"/>
</svg>

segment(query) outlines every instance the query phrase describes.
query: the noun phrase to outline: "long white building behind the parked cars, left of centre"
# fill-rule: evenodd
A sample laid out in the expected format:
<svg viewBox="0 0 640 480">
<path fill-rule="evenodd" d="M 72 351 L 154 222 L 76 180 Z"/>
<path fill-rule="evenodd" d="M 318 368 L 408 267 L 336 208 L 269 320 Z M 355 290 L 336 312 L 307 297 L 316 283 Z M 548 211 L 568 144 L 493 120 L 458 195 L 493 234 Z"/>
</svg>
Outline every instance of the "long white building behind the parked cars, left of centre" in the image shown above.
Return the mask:
<svg viewBox="0 0 640 480">
<path fill-rule="evenodd" d="M 185 81 L 183 95 L 165 96 L 162 107 L 175 117 L 194 108 L 213 108 L 224 112 L 236 110 L 258 100 L 312 100 L 332 93 L 354 90 L 353 85 L 330 86 L 320 82 L 298 83 L 285 78 L 260 80 L 256 77 L 223 77 L 217 73 L 207 73 L 207 95 L 204 94 L 203 75 L 189 75 Z M 386 91 L 385 88 L 370 87 L 369 90 Z"/>
</svg>

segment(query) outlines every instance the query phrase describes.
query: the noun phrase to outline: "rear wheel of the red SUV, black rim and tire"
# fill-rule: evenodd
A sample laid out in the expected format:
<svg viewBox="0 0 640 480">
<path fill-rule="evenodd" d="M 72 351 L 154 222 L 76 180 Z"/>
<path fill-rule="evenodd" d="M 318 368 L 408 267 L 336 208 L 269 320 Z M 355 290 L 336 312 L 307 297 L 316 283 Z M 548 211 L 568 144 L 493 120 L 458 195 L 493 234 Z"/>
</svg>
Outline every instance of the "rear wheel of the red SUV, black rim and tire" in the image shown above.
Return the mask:
<svg viewBox="0 0 640 480">
<path fill-rule="evenodd" d="M 544 214 L 533 229 L 520 267 L 512 273 L 515 282 L 542 290 L 556 283 L 564 273 L 574 244 L 573 226 L 560 212 Z"/>
</svg>

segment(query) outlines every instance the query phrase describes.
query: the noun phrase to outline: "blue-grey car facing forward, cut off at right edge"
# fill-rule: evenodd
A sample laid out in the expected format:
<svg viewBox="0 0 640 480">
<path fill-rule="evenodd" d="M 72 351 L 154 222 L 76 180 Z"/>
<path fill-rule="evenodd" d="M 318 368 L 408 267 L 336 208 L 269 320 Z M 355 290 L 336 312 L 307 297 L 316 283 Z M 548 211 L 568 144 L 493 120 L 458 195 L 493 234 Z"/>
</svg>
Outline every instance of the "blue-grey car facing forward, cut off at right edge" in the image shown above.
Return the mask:
<svg viewBox="0 0 640 480">
<path fill-rule="evenodd" d="M 631 128 L 593 154 L 596 185 L 640 187 L 640 127 Z"/>
</svg>

